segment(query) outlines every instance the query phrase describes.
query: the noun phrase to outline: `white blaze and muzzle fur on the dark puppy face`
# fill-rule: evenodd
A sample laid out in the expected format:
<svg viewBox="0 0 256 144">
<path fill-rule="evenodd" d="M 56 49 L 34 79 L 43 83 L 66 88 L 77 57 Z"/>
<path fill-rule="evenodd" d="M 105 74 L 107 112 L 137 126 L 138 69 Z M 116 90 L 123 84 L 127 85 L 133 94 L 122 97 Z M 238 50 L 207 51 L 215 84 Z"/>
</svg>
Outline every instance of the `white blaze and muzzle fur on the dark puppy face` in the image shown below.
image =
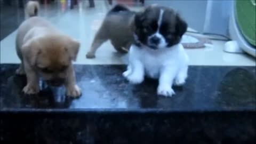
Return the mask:
<svg viewBox="0 0 256 144">
<path fill-rule="evenodd" d="M 157 24 L 158 24 L 157 31 L 156 31 L 155 34 L 153 34 L 153 35 L 151 35 L 151 36 L 148 37 L 148 43 L 149 43 L 148 45 L 154 45 L 154 44 L 151 44 L 151 43 L 150 43 L 150 39 L 151 39 L 152 37 L 156 36 L 156 37 L 158 37 L 158 38 L 160 39 L 160 42 L 159 42 L 159 44 L 157 45 L 157 47 L 158 47 L 159 49 L 163 49 L 163 48 L 165 48 L 166 45 L 167 45 L 164 36 L 159 33 L 159 29 L 160 29 L 159 26 L 162 25 L 163 14 L 164 14 L 164 10 L 160 10 L 159 19 L 158 19 L 158 21 L 157 21 Z"/>
</svg>

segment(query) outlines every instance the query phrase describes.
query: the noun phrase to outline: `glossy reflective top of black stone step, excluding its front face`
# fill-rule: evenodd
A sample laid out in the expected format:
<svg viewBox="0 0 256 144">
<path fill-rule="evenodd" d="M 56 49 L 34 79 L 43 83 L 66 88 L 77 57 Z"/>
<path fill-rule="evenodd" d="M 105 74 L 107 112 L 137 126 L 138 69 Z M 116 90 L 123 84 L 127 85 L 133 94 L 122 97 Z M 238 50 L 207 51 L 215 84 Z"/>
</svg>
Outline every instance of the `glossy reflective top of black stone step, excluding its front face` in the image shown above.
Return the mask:
<svg viewBox="0 0 256 144">
<path fill-rule="evenodd" d="M 146 79 L 140 85 L 122 77 L 123 65 L 76 65 L 79 99 L 65 96 L 64 87 L 50 87 L 41 81 L 38 95 L 23 95 L 26 77 L 14 75 L 18 65 L 1 65 L 1 109 L 8 108 L 159 108 L 169 110 L 255 109 L 255 67 L 191 66 L 176 95 L 156 95 L 158 82 Z"/>
</svg>

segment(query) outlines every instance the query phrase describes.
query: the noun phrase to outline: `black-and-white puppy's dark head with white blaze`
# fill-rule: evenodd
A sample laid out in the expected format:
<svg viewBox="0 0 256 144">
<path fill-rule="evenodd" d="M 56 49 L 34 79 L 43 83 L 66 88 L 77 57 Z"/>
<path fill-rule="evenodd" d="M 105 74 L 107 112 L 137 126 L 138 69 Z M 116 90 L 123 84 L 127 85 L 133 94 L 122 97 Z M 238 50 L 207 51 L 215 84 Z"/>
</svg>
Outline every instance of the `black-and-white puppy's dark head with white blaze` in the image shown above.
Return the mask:
<svg viewBox="0 0 256 144">
<path fill-rule="evenodd" d="M 164 6 L 149 6 L 134 18 L 135 39 L 151 49 L 178 44 L 187 27 L 178 13 Z"/>
</svg>

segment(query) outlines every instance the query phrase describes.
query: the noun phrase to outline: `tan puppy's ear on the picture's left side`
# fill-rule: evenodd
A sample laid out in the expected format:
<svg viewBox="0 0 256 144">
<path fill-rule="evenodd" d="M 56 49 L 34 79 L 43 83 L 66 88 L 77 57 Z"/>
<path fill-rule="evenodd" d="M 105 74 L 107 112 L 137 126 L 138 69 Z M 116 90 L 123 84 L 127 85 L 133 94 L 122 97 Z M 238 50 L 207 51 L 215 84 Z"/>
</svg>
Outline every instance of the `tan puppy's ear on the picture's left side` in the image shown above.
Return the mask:
<svg viewBox="0 0 256 144">
<path fill-rule="evenodd" d="M 35 66 L 40 49 L 36 42 L 29 41 L 22 45 L 21 53 L 23 60 L 27 60 L 31 66 Z"/>
</svg>

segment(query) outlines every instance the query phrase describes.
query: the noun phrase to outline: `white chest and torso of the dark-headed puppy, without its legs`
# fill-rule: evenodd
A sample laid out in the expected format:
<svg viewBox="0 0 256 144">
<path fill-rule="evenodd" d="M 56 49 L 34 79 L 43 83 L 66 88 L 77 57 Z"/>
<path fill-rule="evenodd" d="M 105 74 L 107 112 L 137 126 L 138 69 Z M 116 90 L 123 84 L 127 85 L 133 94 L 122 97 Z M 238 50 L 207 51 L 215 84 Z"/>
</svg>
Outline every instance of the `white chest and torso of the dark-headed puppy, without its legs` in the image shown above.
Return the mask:
<svg viewBox="0 0 256 144">
<path fill-rule="evenodd" d="M 161 73 L 169 69 L 177 74 L 182 67 L 187 67 L 188 56 L 182 44 L 177 44 L 171 49 L 153 50 L 149 47 L 132 45 L 129 52 L 129 62 L 140 61 L 144 73 L 150 78 L 159 78 Z M 132 66 L 134 67 L 134 66 Z"/>
</svg>

